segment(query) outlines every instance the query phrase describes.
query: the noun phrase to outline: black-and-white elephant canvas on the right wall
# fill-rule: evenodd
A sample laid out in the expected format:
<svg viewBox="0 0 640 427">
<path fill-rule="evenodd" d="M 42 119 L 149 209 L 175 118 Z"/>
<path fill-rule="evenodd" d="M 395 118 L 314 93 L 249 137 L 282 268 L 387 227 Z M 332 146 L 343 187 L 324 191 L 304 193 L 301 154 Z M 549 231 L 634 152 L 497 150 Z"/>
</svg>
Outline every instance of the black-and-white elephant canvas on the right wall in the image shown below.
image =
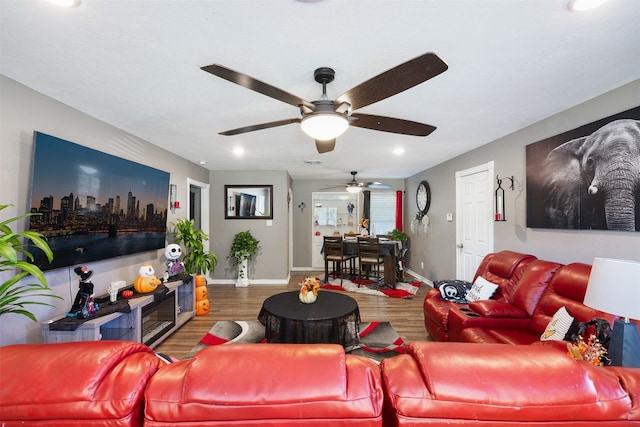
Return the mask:
<svg viewBox="0 0 640 427">
<path fill-rule="evenodd" d="M 527 226 L 640 231 L 640 107 L 527 146 Z"/>
</svg>

